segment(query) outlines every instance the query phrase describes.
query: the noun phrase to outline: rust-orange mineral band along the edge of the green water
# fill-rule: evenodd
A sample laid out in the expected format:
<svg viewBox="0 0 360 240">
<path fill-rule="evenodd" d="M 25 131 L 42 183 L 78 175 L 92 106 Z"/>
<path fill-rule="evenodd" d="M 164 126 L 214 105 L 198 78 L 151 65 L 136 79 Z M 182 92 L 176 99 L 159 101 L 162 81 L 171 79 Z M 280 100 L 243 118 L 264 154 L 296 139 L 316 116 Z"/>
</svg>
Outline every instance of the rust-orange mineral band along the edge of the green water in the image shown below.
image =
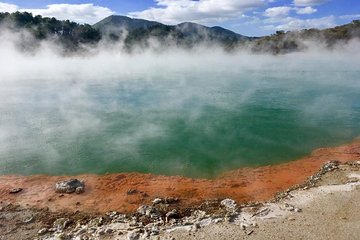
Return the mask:
<svg viewBox="0 0 360 240">
<path fill-rule="evenodd" d="M 304 182 L 327 161 L 360 160 L 360 140 L 351 144 L 320 148 L 308 157 L 274 166 L 241 168 L 216 179 L 192 179 L 141 173 L 73 176 L 86 183 L 83 194 L 54 192 L 57 181 L 69 176 L 0 176 L 0 201 L 51 211 L 131 213 L 154 198 L 177 197 L 180 208 L 193 207 L 208 199 L 231 198 L 237 202 L 262 201 L 275 193 Z M 9 194 L 11 188 L 23 188 Z M 128 194 L 129 190 L 133 191 Z"/>
</svg>

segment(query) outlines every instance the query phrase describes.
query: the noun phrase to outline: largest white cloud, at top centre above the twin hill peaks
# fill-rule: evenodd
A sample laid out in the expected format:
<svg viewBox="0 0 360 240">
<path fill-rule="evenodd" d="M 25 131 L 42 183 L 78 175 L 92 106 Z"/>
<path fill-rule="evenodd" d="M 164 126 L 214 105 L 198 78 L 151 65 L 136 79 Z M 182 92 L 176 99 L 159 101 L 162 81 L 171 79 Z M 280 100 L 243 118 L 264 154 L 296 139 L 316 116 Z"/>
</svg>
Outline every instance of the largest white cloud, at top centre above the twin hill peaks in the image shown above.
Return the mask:
<svg viewBox="0 0 360 240">
<path fill-rule="evenodd" d="M 156 0 L 156 7 L 131 12 L 129 16 L 167 24 L 220 22 L 237 19 L 244 12 L 265 6 L 268 2 L 271 0 Z"/>
</svg>

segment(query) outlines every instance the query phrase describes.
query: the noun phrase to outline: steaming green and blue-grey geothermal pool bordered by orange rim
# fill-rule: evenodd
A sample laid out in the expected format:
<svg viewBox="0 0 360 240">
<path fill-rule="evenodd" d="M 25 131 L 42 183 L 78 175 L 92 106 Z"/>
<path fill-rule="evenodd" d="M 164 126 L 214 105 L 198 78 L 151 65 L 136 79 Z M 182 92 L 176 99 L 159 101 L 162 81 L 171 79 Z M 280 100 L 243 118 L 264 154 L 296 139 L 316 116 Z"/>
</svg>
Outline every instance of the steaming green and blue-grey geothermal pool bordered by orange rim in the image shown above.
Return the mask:
<svg viewBox="0 0 360 240">
<path fill-rule="evenodd" d="M 358 54 L 9 61 L 0 174 L 214 177 L 360 135 Z"/>
</svg>

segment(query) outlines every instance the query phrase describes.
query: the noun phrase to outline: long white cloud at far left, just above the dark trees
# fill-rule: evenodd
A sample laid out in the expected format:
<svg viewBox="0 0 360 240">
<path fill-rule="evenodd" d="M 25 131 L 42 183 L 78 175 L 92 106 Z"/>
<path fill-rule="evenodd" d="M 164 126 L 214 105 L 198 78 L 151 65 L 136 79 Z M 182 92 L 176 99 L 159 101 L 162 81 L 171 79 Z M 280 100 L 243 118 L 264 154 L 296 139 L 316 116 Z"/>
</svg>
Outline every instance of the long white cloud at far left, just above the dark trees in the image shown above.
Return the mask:
<svg viewBox="0 0 360 240">
<path fill-rule="evenodd" d="M 4 10 L 2 10 L 4 9 Z M 106 7 L 96 6 L 92 3 L 87 4 L 51 4 L 46 8 L 22 9 L 13 4 L 5 4 L 0 2 L 0 10 L 6 12 L 27 11 L 34 15 L 42 15 L 44 17 L 55 17 L 60 20 L 71 20 L 79 23 L 93 24 L 114 12 Z"/>
</svg>

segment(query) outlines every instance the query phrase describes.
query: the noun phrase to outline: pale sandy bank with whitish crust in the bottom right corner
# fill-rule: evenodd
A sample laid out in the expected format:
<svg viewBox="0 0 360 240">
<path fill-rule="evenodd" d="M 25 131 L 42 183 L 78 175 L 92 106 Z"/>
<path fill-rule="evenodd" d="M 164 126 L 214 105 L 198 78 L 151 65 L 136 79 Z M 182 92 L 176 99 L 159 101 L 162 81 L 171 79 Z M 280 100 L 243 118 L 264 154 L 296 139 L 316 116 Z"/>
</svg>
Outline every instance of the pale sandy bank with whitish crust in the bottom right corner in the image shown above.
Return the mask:
<svg viewBox="0 0 360 240">
<path fill-rule="evenodd" d="M 209 224 L 196 231 L 165 232 L 161 237 L 357 240 L 360 236 L 359 166 L 340 166 L 339 170 L 322 176 L 315 187 L 291 191 L 284 199 L 260 207 L 242 208 L 230 223 Z"/>
</svg>

